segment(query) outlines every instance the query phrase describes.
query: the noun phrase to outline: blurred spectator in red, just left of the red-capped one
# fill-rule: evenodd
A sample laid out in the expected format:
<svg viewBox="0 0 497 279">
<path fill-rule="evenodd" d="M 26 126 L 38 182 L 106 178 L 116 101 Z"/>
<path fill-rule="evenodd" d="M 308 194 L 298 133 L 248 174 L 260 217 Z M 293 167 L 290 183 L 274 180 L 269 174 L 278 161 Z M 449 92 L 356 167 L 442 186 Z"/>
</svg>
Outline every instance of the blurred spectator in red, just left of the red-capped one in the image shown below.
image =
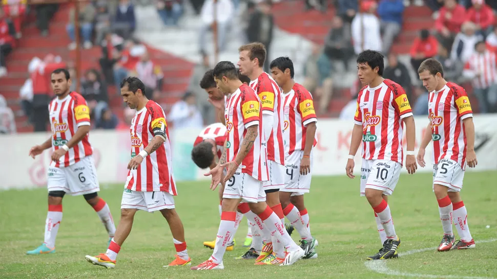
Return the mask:
<svg viewBox="0 0 497 279">
<path fill-rule="evenodd" d="M 445 0 L 444 6 L 440 9 L 439 16 L 435 21 L 440 43 L 445 48 L 450 49 L 455 34 L 459 33 L 465 20 L 466 9 L 457 4 L 455 0 Z"/>
</svg>

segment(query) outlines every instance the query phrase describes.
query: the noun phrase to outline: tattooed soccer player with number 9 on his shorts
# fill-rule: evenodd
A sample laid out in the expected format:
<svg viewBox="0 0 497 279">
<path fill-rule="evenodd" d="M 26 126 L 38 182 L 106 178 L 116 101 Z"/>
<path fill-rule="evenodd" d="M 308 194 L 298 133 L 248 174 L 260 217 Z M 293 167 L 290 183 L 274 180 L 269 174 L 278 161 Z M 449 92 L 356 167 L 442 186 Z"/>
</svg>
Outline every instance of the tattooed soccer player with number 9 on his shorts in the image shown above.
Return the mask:
<svg viewBox="0 0 497 279">
<path fill-rule="evenodd" d="M 261 101 L 256 92 L 238 79 L 235 65 L 221 61 L 214 68 L 214 80 L 224 94 L 232 94 L 226 104 L 226 142 L 218 165 L 206 175 L 212 175 L 211 189 L 222 180 L 225 184 L 222 214 L 214 252 L 209 260 L 192 267 L 193 270 L 223 269 L 222 258 L 226 244 L 235 233 L 236 209 L 245 201 L 254 221 L 263 231 L 277 237 L 286 248 L 282 265 L 291 265 L 303 257 L 304 251 L 292 240 L 280 218 L 265 202 L 263 181 L 268 180 L 266 148 Z M 226 174 L 223 175 L 223 169 Z M 257 221 L 256 221 L 257 220 Z"/>
</svg>

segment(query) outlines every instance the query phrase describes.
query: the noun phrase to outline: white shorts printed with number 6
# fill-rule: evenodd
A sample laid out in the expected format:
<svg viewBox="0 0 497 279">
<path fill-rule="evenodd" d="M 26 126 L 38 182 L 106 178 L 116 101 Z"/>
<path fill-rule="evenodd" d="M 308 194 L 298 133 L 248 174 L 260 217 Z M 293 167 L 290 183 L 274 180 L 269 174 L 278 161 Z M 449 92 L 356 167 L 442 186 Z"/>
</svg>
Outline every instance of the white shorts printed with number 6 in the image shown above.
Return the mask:
<svg viewBox="0 0 497 279">
<path fill-rule="evenodd" d="M 64 191 L 72 196 L 100 191 L 93 156 L 86 156 L 69 167 L 48 167 L 48 192 Z"/>
</svg>

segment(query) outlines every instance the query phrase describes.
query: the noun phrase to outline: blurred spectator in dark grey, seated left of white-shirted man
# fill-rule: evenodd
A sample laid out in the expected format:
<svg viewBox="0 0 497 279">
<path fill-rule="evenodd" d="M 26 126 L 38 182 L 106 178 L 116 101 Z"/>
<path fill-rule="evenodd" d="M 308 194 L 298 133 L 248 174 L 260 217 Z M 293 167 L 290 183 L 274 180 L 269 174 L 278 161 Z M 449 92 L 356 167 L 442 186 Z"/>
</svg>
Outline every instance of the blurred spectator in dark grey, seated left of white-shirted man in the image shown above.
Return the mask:
<svg viewBox="0 0 497 279">
<path fill-rule="evenodd" d="M 348 62 L 354 55 L 352 49 L 352 35 L 350 28 L 343 25 L 343 20 L 339 16 L 334 16 L 332 29 L 324 39 L 324 53 L 332 60 L 343 62 L 345 71 L 348 71 Z"/>
</svg>

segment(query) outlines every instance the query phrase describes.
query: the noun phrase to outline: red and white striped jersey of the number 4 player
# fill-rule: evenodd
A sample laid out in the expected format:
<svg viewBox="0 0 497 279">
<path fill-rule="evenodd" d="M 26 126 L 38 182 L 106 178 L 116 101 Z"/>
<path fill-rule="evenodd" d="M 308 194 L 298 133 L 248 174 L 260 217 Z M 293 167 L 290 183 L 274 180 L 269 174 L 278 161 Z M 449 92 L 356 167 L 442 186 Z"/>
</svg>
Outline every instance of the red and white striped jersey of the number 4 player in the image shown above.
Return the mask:
<svg viewBox="0 0 497 279">
<path fill-rule="evenodd" d="M 314 110 L 313 96 L 304 86 L 295 83 L 288 93 L 283 93 L 284 104 L 284 126 L 283 140 L 285 143 L 285 153 L 292 154 L 296 150 L 304 150 L 305 132 L 307 124 L 317 122 Z M 317 144 L 316 135 L 314 144 Z"/>
</svg>

